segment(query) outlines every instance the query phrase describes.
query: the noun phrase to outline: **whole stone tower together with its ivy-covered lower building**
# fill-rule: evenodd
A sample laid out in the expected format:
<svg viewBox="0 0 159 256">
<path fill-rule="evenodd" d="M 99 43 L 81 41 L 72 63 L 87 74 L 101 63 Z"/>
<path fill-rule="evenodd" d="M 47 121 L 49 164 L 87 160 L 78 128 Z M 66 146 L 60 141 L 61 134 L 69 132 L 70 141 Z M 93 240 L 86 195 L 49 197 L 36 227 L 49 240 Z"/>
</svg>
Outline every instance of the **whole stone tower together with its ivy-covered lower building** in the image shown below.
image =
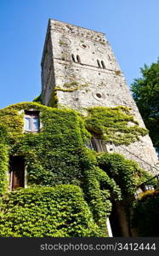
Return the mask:
<svg viewBox="0 0 159 256">
<path fill-rule="evenodd" d="M 49 20 L 42 84 L 0 110 L 0 237 L 158 236 L 156 153 L 104 34 Z"/>
</svg>

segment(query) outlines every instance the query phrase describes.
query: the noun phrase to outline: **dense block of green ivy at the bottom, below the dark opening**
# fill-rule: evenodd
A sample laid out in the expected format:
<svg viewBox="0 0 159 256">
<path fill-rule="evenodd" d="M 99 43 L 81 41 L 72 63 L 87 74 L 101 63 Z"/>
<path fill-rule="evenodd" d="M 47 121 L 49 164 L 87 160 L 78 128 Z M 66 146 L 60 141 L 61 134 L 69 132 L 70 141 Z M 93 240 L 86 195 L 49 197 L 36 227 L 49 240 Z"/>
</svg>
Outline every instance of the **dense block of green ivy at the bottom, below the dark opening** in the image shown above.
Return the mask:
<svg viewBox="0 0 159 256">
<path fill-rule="evenodd" d="M 73 185 L 6 194 L 1 212 L 0 237 L 100 236 L 82 190 Z"/>
</svg>

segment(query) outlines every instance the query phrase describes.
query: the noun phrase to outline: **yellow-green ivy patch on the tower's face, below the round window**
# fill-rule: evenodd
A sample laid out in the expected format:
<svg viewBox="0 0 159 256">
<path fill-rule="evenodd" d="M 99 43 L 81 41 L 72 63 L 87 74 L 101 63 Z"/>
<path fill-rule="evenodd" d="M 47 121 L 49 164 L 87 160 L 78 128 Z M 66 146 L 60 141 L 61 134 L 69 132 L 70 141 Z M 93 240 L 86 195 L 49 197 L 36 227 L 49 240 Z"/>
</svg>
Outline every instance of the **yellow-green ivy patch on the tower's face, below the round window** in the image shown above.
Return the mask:
<svg viewBox="0 0 159 256">
<path fill-rule="evenodd" d="M 130 122 L 133 125 L 129 125 Z M 88 108 L 85 125 L 95 137 L 115 144 L 128 145 L 139 140 L 139 136 L 147 134 L 144 128 L 139 127 L 126 107 Z"/>
</svg>

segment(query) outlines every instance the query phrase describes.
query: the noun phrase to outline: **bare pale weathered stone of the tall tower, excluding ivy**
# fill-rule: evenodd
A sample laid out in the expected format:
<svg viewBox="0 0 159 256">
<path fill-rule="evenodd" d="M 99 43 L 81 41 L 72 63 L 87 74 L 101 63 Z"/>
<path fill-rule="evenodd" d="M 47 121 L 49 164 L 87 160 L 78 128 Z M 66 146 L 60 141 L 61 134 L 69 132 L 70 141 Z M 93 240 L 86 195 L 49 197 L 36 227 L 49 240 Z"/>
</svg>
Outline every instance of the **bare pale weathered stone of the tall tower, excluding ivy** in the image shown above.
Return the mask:
<svg viewBox="0 0 159 256">
<path fill-rule="evenodd" d="M 105 34 L 52 19 L 43 49 L 42 102 L 79 111 L 128 106 L 145 127 Z M 111 145 L 112 151 L 137 160 L 153 174 L 157 172 L 156 151 L 149 136 L 128 147 Z"/>
</svg>

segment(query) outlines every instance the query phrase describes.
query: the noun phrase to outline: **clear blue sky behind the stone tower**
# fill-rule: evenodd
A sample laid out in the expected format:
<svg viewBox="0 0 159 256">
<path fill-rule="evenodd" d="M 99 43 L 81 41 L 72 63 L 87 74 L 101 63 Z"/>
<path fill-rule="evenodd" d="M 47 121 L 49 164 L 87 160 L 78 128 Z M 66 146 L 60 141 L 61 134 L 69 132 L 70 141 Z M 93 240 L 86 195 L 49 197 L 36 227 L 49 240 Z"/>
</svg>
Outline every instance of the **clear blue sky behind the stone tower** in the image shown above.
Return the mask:
<svg viewBox="0 0 159 256">
<path fill-rule="evenodd" d="M 159 56 L 158 0 L 0 0 L 0 108 L 41 91 L 48 19 L 105 32 L 128 84 Z"/>
</svg>

